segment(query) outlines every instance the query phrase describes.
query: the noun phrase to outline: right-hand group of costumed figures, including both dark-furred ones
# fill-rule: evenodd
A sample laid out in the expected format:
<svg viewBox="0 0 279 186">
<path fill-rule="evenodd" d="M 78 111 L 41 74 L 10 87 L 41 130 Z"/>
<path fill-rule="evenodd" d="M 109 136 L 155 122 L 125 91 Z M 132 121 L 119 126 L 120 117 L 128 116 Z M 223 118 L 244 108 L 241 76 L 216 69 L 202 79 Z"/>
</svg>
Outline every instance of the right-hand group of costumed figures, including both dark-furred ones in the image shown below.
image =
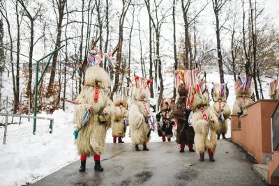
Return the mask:
<svg viewBox="0 0 279 186">
<path fill-rule="evenodd" d="M 174 100 L 163 98 L 161 109 L 156 115 L 158 122 L 158 135 L 165 142 L 165 137 L 171 141 L 173 133 L 176 143 L 180 145 L 180 152 L 185 152 L 188 146 L 190 152 L 199 154 L 199 161 L 204 161 L 204 152 L 209 153 L 209 160 L 215 162 L 217 139 L 222 135 L 226 139 L 227 119 L 231 115 L 231 109 L 227 104 L 229 90 L 227 84 L 213 84 L 211 89 L 211 101 L 209 84 L 206 79 L 198 80 L 197 70 L 176 70 L 176 91 L 179 95 Z M 277 82 L 271 83 L 271 93 L 276 96 Z M 251 77 L 238 77 L 234 86 L 236 100 L 233 114 L 239 116 L 247 114 L 247 107 L 252 104 L 254 84 Z M 173 132 L 172 132 L 173 128 Z M 193 149 L 195 144 L 195 150 Z"/>
</svg>

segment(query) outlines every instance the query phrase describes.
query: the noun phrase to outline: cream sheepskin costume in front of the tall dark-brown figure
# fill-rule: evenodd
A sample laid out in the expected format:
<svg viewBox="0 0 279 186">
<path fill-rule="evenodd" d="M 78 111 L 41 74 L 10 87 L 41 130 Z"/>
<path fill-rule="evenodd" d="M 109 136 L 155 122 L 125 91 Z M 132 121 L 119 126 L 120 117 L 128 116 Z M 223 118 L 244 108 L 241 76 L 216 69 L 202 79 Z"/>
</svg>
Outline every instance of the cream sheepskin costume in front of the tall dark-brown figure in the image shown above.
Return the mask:
<svg viewBox="0 0 279 186">
<path fill-rule="evenodd" d="M 204 151 L 209 152 L 209 159 L 214 162 L 213 154 L 217 146 L 216 131 L 219 130 L 219 121 L 217 116 L 209 107 L 209 93 L 196 93 L 192 102 L 194 114 L 192 116 L 192 125 L 195 130 L 195 148 L 199 153 L 199 161 L 204 161 Z"/>
</svg>

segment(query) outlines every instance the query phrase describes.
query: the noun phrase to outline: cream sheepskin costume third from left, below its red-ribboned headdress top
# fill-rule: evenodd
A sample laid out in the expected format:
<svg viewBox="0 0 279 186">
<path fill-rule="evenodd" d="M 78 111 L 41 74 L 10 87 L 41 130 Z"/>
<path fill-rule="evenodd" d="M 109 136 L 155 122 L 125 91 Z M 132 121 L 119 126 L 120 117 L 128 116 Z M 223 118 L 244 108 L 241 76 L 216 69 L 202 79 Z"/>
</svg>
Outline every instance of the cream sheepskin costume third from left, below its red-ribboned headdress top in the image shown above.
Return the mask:
<svg viewBox="0 0 279 186">
<path fill-rule="evenodd" d="M 150 139 L 151 129 L 149 127 L 149 91 L 146 88 L 135 88 L 133 99 L 129 108 L 128 122 L 130 125 L 130 138 L 135 145 L 135 150 L 139 151 L 139 144 L 144 146 L 143 150 L 149 150 L 146 143 Z"/>
</svg>

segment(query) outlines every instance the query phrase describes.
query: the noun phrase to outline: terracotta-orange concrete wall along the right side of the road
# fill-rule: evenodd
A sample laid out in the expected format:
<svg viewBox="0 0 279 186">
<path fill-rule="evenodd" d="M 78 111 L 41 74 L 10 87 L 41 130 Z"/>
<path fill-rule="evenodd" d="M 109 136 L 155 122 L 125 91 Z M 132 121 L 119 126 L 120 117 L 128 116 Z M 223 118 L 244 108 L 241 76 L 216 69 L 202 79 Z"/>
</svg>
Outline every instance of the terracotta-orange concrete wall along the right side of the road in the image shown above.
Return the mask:
<svg viewBox="0 0 279 186">
<path fill-rule="evenodd" d="M 259 100 L 248 107 L 248 115 L 232 115 L 232 141 L 246 148 L 259 164 L 266 163 L 266 155 L 271 153 L 271 115 L 277 102 Z"/>
</svg>

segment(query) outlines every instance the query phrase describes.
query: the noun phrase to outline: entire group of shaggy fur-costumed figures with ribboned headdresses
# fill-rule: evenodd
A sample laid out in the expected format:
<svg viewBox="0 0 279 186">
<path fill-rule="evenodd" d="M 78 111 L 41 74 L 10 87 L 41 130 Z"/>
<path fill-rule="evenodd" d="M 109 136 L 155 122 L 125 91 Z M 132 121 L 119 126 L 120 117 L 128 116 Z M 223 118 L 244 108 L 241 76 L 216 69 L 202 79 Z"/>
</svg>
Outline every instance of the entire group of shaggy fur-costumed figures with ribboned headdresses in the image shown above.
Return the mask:
<svg viewBox="0 0 279 186">
<path fill-rule="evenodd" d="M 135 76 L 135 82 L 130 88 L 121 87 L 109 97 L 111 73 L 117 65 L 112 54 L 104 54 L 109 62 L 106 71 L 100 67 L 104 60 L 102 54 L 91 44 L 88 59 L 85 61 L 84 82 L 80 95 L 77 96 L 74 109 L 74 132 L 77 153 L 80 155 L 80 171 L 86 169 L 86 158 L 95 161 L 94 169 L 103 171 L 100 155 L 105 152 L 107 129 L 112 128 L 113 142 L 123 143 L 129 125 L 129 137 L 135 150 L 148 151 L 147 143 L 151 138 L 157 121 L 157 130 L 162 141 L 171 141 L 176 137 L 180 145 L 180 152 L 185 152 L 188 146 L 190 152 L 199 154 L 199 161 L 204 161 L 204 152 L 209 153 L 209 160 L 214 162 L 217 139 L 225 138 L 227 133 L 227 119 L 231 109 L 227 104 L 229 91 L 224 83 L 213 84 L 210 91 L 206 79 L 197 78 L 195 70 L 176 70 L 176 100 L 163 98 L 160 111 L 153 116 L 150 109 L 151 79 Z M 250 77 L 238 77 L 234 86 L 236 100 L 232 114 L 243 116 L 247 114 L 247 107 L 252 104 L 254 84 Z M 278 99 L 278 82 L 273 80 L 269 84 L 272 99 Z M 194 150 L 195 144 L 195 150 Z"/>
</svg>

